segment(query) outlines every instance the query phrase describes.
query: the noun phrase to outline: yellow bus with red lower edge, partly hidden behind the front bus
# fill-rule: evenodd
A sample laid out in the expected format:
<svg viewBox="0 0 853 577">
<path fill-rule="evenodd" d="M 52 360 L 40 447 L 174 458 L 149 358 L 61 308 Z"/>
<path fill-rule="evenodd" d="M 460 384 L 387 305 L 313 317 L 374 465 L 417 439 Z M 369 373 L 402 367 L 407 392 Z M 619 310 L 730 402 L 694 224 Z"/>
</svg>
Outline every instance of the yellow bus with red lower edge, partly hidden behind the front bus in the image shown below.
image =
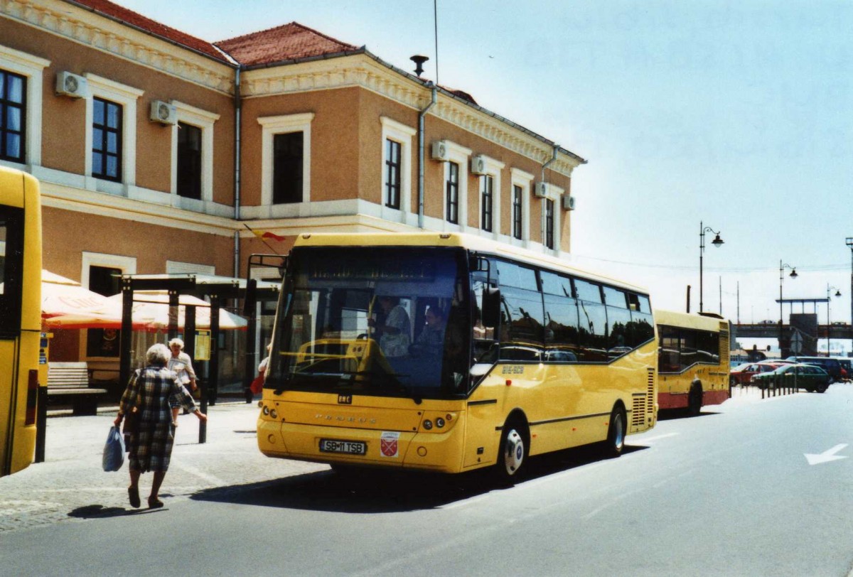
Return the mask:
<svg viewBox="0 0 853 577">
<path fill-rule="evenodd" d="M 658 324 L 661 409 L 687 408 L 698 415 L 705 405 L 729 396 L 728 321 L 717 314 L 654 311 Z"/>
</svg>

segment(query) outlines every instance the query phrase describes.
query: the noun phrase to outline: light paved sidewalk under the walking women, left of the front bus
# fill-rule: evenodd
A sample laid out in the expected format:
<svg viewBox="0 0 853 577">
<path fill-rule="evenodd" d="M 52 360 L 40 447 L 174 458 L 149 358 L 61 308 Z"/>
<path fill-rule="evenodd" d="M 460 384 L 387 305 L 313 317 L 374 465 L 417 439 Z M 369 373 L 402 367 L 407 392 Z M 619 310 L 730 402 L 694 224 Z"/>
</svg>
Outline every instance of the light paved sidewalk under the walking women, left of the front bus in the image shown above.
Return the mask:
<svg viewBox="0 0 853 577">
<path fill-rule="evenodd" d="M 101 459 L 107 432 L 117 407 L 102 408 L 96 416 L 48 418 L 44 463 L 34 463 L 15 475 L 0 477 L 0 534 L 60 521 L 82 521 L 102 509 L 130 509 L 127 461 L 107 473 Z M 208 407 L 207 440 L 199 444 L 199 420 L 178 418 L 160 498 L 166 506 L 189 499 L 199 491 L 272 481 L 284 476 L 328 469 L 326 465 L 270 459 L 258 451 L 257 403 L 219 402 Z M 142 475 L 140 494 L 148 495 L 150 473 Z"/>
</svg>

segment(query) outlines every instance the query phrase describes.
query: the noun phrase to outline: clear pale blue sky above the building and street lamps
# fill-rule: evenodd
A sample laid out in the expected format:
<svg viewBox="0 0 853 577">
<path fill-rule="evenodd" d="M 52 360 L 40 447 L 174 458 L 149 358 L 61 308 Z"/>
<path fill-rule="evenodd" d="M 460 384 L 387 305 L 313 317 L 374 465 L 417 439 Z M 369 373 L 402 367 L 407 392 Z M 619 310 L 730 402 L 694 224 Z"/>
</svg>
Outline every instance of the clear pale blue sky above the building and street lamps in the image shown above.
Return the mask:
<svg viewBox="0 0 853 577">
<path fill-rule="evenodd" d="M 436 75 L 432 0 L 119 3 L 210 41 L 295 20 L 406 70 L 428 55 Z M 832 320 L 850 322 L 851 30 L 846 0 L 438 0 L 438 81 L 589 159 L 575 263 L 659 308 L 684 309 L 691 285 L 696 310 L 704 221 L 725 240 L 707 239 L 705 310 L 722 282 L 722 314 L 740 286 L 741 321 L 777 320 L 783 260 L 799 274 L 784 297 L 835 286 Z"/>
</svg>

